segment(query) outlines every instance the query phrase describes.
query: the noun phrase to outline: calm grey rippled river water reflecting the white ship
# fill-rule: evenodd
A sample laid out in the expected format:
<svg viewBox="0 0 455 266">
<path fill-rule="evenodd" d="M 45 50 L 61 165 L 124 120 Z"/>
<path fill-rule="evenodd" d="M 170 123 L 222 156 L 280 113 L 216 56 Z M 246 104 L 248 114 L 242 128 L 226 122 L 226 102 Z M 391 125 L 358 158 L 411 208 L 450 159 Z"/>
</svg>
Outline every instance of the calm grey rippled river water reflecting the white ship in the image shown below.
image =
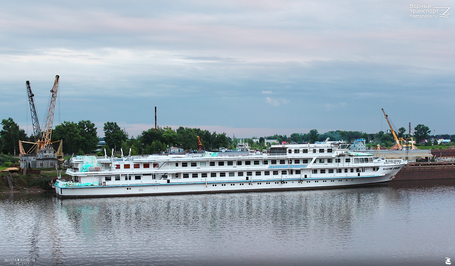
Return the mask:
<svg viewBox="0 0 455 266">
<path fill-rule="evenodd" d="M 3 195 L 0 255 L 34 258 L 30 265 L 435 265 L 455 256 L 454 190 L 452 180 L 433 180 L 121 198 Z"/>
</svg>

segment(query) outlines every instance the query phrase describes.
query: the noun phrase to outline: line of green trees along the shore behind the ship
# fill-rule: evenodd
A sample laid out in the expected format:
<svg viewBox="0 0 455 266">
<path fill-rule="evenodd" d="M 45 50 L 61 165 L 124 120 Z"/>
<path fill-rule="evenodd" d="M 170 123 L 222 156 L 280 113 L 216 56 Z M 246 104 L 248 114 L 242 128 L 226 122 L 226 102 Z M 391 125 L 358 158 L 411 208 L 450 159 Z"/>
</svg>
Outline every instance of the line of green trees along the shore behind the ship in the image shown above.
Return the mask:
<svg viewBox="0 0 455 266">
<path fill-rule="evenodd" d="M 14 120 L 9 117 L 1 122 L 2 130 L 0 130 L 0 151 L 4 154 L 18 155 L 19 141 L 35 142 L 35 136 L 27 136 L 25 130 L 20 129 Z M 103 126 L 104 141 L 106 145 L 102 147 L 102 152 L 99 155 L 104 155 L 104 149 L 108 153 L 112 149 L 115 151 L 123 150 L 127 155 L 131 149 L 131 155 L 153 154 L 166 151 L 169 147 L 179 147 L 184 151 L 197 149 L 197 136 L 201 138 L 202 145 L 205 150 L 217 150 L 219 147 L 234 149 L 239 139 L 232 139 L 226 136 L 226 133 L 210 132 L 199 128 L 189 128 L 180 126 L 176 130 L 171 127 L 158 127 L 149 130 L 144 130 L 139 136 L 128 136 L 125 130 L 122 130 L 116 122 L 106 122 Z M 400 127 L 396 134 L 399 138 L 404 139 L 413 137 L 417 143 L 423 140 L 430 139 L 431 130 L 428 126 L 419 124 L 414 128 L 414 134 L 405 134 L 404 127 Z M 436 135 L 436 138 L 444 138 L 455 141 L 455 135 Z M 381 146 L 393 146 L 395 144 L 393 134 L 390 130 L 379 131 L 378 133 L 365 133 L 362 131 L 345 131 L 334 130 L 320 134 L 318 130 L 313 129 L 308 133 L 293 133 L 291 136 L 278 135 L 260 137 L 258 143 L 253 139 L 256 137 L 243 139 L 254 148 L 263 149 L 268 144 L 265 140 L 277 140 L 279 143 L 286 141 L 287 143 L 314 143 L 316 141 L 325 141 L 327 138 L 330 141 L 346 141 L 352 142 L 356 139 L 365 139 L 371 146 L 380 144 Z M 90 154 L 96 151 L 99 137 L 97 136 L 97 128 L 90 120 L 81 120 L 79 122 L 64 121 L 60 125 L 56 125 L 52 130 L 51 141 L 63 141 L 63 152 L 66 154 Z M 371 142 L 371 143 L 370 143 Z M 374 144 L 373 144 L 374 143 Z M 430 145 L 433 143 L 430 143 Z M 30 145 L 31 146 L 31 145 Z M 27 146 L 25 149 L 29 148 Z"/>
</svg>

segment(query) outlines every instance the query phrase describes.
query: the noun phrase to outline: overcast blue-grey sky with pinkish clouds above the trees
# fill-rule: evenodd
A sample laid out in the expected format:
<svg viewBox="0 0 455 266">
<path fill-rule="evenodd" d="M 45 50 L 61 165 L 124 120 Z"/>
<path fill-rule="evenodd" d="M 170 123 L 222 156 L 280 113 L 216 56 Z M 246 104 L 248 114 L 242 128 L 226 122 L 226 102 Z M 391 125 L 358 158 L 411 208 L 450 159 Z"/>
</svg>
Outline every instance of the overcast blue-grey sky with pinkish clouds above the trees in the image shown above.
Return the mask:
<svg viewBox="0 0 455 266">
<path fill-rule="evenodd" d="M 424 124 L 455 134 L 455 2 L 0 0 L 0 119 L 232 137 Z M 414 9 L 415 10 L 415 9 Z M 453 12 L 451 12 L 453 11 Z M 422 11 L 423 12 L 423 11 Z M 428 13 L 415 13 L 426 15 Z"/>
</svg>

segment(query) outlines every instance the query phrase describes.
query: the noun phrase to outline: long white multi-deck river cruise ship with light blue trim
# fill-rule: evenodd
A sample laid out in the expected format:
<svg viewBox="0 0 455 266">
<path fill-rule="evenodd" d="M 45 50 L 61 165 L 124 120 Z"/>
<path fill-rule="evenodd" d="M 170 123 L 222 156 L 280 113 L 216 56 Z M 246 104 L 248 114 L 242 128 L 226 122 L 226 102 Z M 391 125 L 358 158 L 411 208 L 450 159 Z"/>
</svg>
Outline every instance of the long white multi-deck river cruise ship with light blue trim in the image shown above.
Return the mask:
<svg viewBox="0 0 455 266">
<path fill-rule="evenodd" d="M 61 197 L 320 189 L 386 184 L 407 163 L 350 144 L 272 145 L 270 152 L 76 156 L 57 180 Z"/>
</svg>

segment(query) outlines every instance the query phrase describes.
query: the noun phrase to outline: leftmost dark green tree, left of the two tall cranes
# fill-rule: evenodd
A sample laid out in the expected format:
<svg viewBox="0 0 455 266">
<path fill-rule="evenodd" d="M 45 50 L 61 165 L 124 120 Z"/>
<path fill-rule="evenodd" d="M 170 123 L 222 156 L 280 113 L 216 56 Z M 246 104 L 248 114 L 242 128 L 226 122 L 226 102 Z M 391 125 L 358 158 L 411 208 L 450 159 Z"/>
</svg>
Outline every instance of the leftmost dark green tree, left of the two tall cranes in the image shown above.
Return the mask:
<svg viewBox="0 0 455 266">
<path fill-rule="evenodd" d="M 27 141 L 25 130 L 20 129 L 14 120 L 9 117 L 1 121 L 3 129 L 0 130 L 1 151 L 3 153 L 19 154 L 19 141 Z"/>
</svg>

